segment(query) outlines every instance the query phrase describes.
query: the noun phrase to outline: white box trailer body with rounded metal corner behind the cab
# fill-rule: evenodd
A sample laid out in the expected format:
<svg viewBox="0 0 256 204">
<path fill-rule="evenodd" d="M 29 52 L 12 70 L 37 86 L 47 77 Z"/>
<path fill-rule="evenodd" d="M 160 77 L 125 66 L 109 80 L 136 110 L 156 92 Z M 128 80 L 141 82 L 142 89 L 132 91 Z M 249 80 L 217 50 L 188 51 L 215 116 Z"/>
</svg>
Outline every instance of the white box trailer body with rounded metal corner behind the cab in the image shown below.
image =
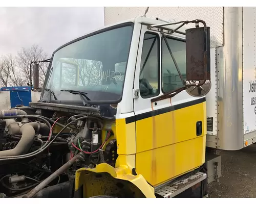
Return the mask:
<svg viewBox="0 0 256 204">
<path fill-rule="evenodd" d="M 105 7 L 104 22 L 141 16 L 145 10 Z M 238 150 L 256 142 L 256 7 L 150 7 L 146 16 L 206 21 L 212 83 L 206 95 L 206 146 Z"/>
</svg>

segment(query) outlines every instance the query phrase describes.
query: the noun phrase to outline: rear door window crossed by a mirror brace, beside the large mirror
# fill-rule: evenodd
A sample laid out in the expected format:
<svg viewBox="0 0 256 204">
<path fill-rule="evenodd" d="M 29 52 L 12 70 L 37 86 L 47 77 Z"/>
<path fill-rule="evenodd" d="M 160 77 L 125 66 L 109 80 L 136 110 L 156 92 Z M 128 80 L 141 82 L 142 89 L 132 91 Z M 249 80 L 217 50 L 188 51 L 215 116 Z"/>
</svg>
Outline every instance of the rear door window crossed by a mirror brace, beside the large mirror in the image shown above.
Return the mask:
<svg viewBox="0 0 256 204">
<path fill-rule="evenodd" d="M 183 79 L 186 79 L 186 44 L 173 38 L 166 38 L 170 50 L 178 64 Z M 174 91 L 183 87 L 182 81 L 170 56 L 167 45 L 162 39 L 162 91 L 163 93 Z"/>
</svg>

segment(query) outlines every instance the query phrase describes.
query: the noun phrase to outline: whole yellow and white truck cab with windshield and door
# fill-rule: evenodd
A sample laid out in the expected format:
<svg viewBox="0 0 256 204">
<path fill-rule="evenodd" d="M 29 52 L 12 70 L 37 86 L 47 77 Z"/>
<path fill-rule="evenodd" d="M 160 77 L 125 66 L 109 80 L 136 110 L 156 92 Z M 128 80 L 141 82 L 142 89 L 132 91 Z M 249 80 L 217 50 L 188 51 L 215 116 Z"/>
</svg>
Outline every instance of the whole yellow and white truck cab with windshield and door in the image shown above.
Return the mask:
<svg viewBox="0 0 256 204">
<path fill-rule="evenodd" d="M 141 175 L 141 182 L 149 184 L 142 191 L 146 197 L 155 196 L 153 188 L 169 185 L 205 163 L 205 94 L 210 81 L 204 76 L 200 86 L 193 86 L 193 91 L 200 89 L 194 91 L 196 97 L 189 86 L 184 88 L 189 55 L 185 29 L 175 31 L 177 26 L 168 23 L 155 27 L 163 23 L 140 16 L 61 46 L 52 56 L 40 102 L 31 103 L 34 108 L 99 108 L 102 117 L 113 119 L 106 123 L 115 130 L 113 167 L 125 168 L 125 175 L 134 180 Z M 196 179 L 201 182 L 206 174 L 200 172 Z M 76 181 L 76 188 L 86 182 Z M 159 190 L 159 195 L 174 196 L 177 190 Z"/>
</svg>

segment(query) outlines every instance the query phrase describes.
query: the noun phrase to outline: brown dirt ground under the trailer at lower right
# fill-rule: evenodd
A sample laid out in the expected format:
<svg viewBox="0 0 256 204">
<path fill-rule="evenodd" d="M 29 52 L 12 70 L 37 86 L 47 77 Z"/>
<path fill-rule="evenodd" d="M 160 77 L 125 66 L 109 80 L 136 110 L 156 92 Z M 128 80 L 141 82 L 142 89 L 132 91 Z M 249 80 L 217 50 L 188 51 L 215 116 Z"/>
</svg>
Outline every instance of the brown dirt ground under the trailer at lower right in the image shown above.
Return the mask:
<svg viewBox="0 0 256 204">
<path fill-rule="evenodd" d="M 256 145 L 220 155 L 222 175 L 209 184 L 209 197 L 256 197 Z"/>
</svg>

